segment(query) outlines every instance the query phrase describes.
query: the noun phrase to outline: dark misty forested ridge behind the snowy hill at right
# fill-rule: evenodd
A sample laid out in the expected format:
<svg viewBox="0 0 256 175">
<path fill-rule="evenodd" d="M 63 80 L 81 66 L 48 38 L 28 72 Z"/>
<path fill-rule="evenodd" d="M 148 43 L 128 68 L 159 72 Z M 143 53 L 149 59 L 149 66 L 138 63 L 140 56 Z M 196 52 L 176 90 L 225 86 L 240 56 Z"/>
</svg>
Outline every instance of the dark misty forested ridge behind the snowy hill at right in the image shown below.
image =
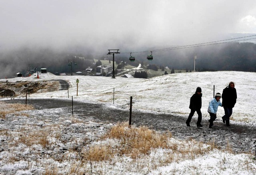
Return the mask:
<svg viewBox="0 0 256 175">
<path fill-rule="evenodd" d="M 164 71 L 165 67 L 177 70 L 194 70 L 196 53 L 196 71 L 251 71 L 256 72 L 256 44 L 234 42 L 165 52 L 153 52 L 154 59 L 148 61 L 144 55 L 134 55 L 136 60 L 129 64 L 148 65 L 147 69 Z M 129 57 L 122 57 L 129 61 Z M 165 65 L 165 66 L 164 66 Z"/>
</svg>

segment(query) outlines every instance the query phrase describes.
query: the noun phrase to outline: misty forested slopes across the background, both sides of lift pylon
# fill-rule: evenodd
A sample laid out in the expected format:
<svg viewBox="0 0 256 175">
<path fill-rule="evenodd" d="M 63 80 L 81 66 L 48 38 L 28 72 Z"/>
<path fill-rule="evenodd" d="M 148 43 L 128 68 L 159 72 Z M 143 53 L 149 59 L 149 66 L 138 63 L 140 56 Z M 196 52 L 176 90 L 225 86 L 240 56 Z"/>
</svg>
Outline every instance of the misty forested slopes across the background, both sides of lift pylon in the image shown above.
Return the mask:
<svg viewBox="0 0 256 175">
<path fill-rule="evenodd" d="M 119 55 L 115 57 L 119 65 L 122 61 L 130 65 L 157 71 L 158 67 L 162 71 L 164 68 L 174 67 L 176 70 L 186 71 L 194 69 L 194 54 L 196 53 L 196 71 L 251 71 L 256 72 L 256 44 L 248 42 L 234 42 L 187 49 L 178 49 L 165 52 L 153 52 L 154 59 L 146 60 L 145 55 L 133 55 L 135 61 L 129 61 L 130 55 Z M 76 56 L 76 57 L 74 57 Z M 16 76 L 16 73 L 25 73 L 33 67 L 47 68 L 51 73 L 68 73 L 71 67 L 68 65 L 69 59 L 74 59 L 77 65 L 72 65 L 72 71 L 82 71 L 91 67 L 94 57 L 82 53 L 70 53 L 57 51 L 51 48 L 29 48 L 20 47 L 16 50 L 0 52 L 1 65 L 0 77 L 8 75 Z M 104 58 L 103 58 L 104 59 Z M 101 63 L 98 62 L 97 65 Z M 28 65 L 31 65 L 29 68 Z M 148 65 L 146 67 L 145 65 Z M 120 65 L 119 67 L 122 67 Z M 173 73 L 173 71 L 171 71 Z"/>
</svg>

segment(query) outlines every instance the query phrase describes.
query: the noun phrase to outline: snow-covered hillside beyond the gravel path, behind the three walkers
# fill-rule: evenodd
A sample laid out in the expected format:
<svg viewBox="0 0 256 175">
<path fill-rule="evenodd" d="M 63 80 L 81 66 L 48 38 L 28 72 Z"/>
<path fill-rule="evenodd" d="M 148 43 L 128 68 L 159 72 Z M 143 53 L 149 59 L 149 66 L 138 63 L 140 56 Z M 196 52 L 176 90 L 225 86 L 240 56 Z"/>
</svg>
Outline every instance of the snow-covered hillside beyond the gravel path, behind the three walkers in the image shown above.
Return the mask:
<svg viewBox="0 0 256 175">
<path fill-rule="evenodd" d="M 8 79 L 8 81 L 47 81 L 54 79 L 63 79 L 70 84 L 69 96 L 73 96 L 74 100 L 104 103 L 114 108 L 129 109 L 130 96 L 132 96 L 132 108 L 134 110 L 185 116 L 190 112 L 188 108 L 189 100 L 196 87 L 202 88 L 201 111 L 203 116 L 206 116 L 208 115 L 209 101 L 214 96 L 214 86 L 215 93 L 222 93 L 228 83 L 233 81 L 238 96 L 237 103 L 233 109 L 233 120 L 256 121 L 256 73 L 235 71 L 175 73 L 152 79 L 56 76 L 52 73 L 47 73 L 39 74 L 39 79 L 32 75 L 26 78 Z M 76 79 L 79 79 L 78 96 L 76 96 Z M 6 81 L 6 79 L 1 79 L 0 81 Z M 30 94 L 30 98 L 68 99 L 68 91 Z M 217 117 L 220 118 L 223 115 L 223 108 L 219 108 Z"/>
</svg>

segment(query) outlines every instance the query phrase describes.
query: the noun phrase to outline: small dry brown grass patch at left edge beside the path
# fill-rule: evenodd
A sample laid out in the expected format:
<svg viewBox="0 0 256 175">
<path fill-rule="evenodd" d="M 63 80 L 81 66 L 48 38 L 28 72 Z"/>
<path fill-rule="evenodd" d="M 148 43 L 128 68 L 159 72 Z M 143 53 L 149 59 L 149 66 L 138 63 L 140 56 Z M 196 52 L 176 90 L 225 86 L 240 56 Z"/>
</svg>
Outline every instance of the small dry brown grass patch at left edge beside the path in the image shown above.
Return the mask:
<svg viewBox="0 0 256 175">
<path fill-rule="evenodd" d="M 32 105 L 25 105 L 20 103 L 8 104 L 5 102 L 0 102 L 0 118 L 6 119 L 6 115 L 8 114 L 28 116 L 28 114 L 26 113 L 19 113 L 19 112 L 24 110 L 32 110 L 32 109 L 34 109 Z"/>
</svg>

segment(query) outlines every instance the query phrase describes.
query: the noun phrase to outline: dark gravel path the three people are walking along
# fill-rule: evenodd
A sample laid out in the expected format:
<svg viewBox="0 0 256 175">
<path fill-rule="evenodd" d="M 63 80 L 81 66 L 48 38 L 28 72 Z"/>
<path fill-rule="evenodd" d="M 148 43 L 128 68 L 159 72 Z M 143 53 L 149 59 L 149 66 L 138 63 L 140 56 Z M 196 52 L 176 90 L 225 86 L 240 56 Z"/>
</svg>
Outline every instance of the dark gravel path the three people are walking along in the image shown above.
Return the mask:
<svg viewBox="0 0 256 175">
<path fill-rule="evenodd" d="M 25 103 L 24 100 L 8 100 L 10 103 Z M 28 104 L 32 104 L 36 109 L 62 108 L 63 114 L 72 115 L 72 102 L 68 100 L 56 99 L 28 99 Z M 74 116 L 85 121 L 102 123 L 116 123 L 129 121 L 129 110 L 116 110 L 108 108 L 102 104 L 88 104 L 73 102 Z M 149 126 L 154 130 L 170 130 L 172 136 L 178 140 L 189 140 L 193 138 L 204 143 L 214 140 L 218 147 L 226 149 L 230 147 L 234 152 L 255 153 L 256 145 L 256 123 L 241 123 L 231 121 L 230 127 L 222 123 L 222 120 L 214 122 L 213 128 L 208 128 L 208 118 L 203 118 L 202 128 L 196 127 L 197 117 L 193 117 L 191 127 L 187 127 L 186 118 L 182 116 L 172 116 L 166 114 L 152 114 L 146 112 L 132 111 L 132 125 Z"/>
</svg>

